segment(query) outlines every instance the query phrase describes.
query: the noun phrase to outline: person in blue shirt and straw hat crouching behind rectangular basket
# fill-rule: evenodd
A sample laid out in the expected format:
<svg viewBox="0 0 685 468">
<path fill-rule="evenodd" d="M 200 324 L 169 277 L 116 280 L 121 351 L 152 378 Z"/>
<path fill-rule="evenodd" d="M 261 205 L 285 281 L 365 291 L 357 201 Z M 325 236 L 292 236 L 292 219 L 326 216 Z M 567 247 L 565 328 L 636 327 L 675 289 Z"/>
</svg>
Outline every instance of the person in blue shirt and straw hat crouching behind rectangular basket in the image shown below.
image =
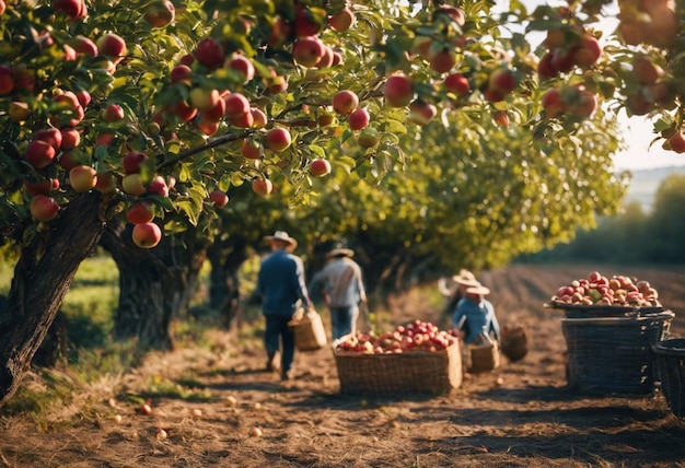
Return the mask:
<svg viewBox="0 0 685 468">
<path fill-rule="evenodd" d="M 483 284 L 466 288 L 456 305 L 452 324 L 462 332 L 465 344 L 478 343 L 481 335 L 500 340 L 500 328 L 495 307 L 485 299 L 490 290 Z"/>
</svg>

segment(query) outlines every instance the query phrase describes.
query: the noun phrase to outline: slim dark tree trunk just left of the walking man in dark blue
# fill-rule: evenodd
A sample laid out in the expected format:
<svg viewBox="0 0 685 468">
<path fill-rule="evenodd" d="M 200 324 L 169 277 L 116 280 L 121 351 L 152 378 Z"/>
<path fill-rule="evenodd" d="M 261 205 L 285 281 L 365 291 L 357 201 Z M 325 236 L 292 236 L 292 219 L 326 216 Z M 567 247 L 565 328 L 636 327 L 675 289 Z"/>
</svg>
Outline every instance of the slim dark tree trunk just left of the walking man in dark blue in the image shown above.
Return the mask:
<svg viewBox="0 0 685 468">
<path fill-rule="evenodd" d="M 237 270 L 247 259 L 247 243 L 241 236 L 217 238 L 207 251 L 211 264 L 209 305 L 219 312 L 225 328 L 240 314 Z"/>
</svg>

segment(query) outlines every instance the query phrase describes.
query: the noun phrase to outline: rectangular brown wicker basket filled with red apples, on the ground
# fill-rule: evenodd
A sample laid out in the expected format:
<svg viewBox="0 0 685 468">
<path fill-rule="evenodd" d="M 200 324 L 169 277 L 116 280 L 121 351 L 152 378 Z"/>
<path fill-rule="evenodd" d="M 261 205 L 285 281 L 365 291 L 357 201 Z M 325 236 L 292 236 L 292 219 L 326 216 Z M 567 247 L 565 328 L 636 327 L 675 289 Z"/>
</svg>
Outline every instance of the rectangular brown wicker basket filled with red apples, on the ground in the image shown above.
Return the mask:
<svg viewBox="0 0 685 468">
<path fill-rule="evenodd" d="M 438 395 L 462 383 L 458 338 L 429 321 L 348 335 L 333 348 L 342 394 Z"/>
</svg>

